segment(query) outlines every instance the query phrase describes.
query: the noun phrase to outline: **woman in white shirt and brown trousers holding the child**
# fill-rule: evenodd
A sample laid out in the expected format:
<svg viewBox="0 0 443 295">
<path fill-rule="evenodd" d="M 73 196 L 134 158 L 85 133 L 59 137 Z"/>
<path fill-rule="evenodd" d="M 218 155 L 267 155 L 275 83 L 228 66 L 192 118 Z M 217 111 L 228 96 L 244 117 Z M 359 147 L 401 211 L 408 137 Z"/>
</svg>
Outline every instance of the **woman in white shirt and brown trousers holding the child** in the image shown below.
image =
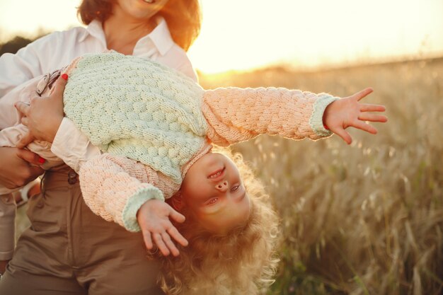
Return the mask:
<svg viewBox="0 0 443 295">
<path fill-rule="evenodd" d="M 79 16 L 86 29 L 52 33 L 0 57 L 0 97 L 75 57 L 105 50 L 154 59 L 196 80 L 185 50 L 200 31 L 198 1 L 84 0 Z M 0 98 L 0 128 L 16 124 L 11 108 L 13 102 Z M 69 166 L 99 152 L 69 120 L 58 123 L 53 147 Z M 32 166 L 39 160 L 29 151 L 1 148 L 0 183 L 9 188 L 28 183 L 42 173 Z M 42 188 L 42 195 L 30 200 L 32 225 L 18 241 L 0 294 L 162 294 L 156 286 L 158 265 L 146 260 L 142 236 L 94 215 L 74 170 L 62 166 L 45 173 Z"/>
</svg>

